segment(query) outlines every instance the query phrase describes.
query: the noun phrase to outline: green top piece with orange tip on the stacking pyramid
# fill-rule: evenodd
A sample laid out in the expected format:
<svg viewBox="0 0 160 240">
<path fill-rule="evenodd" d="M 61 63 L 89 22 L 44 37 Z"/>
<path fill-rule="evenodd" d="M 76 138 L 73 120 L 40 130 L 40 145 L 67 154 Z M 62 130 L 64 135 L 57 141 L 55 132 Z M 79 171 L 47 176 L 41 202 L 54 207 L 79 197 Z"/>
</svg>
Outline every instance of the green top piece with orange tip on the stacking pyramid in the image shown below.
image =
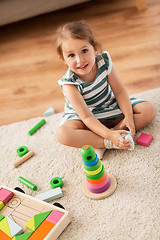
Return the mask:
<svg viewBox="0 0 160 240">
<path fill-rule="evenodd" d="M 93 162 L 96 158 L 94 148 L 90 145 L 83 146 L 80 152 L 84 162 Z"/>
</svg>

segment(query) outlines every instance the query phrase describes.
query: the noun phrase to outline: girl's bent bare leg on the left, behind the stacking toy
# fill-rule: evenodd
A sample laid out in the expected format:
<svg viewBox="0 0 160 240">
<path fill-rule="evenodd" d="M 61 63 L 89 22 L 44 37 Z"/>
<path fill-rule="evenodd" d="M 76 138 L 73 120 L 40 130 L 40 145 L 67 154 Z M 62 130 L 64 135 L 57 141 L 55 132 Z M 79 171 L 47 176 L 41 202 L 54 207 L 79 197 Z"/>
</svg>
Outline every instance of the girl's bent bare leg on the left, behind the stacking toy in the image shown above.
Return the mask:
<svg viewBox="0 0 160 240">
<path fill-rule="evenodd" d="M 89 144 L 94 148 L 105 148 L 104 139 L 88 130 L 81 121 L 65 122 L 57 129 L 56 137 L 61 144 L 70 147 L 81 148 Z"/>
</svg>

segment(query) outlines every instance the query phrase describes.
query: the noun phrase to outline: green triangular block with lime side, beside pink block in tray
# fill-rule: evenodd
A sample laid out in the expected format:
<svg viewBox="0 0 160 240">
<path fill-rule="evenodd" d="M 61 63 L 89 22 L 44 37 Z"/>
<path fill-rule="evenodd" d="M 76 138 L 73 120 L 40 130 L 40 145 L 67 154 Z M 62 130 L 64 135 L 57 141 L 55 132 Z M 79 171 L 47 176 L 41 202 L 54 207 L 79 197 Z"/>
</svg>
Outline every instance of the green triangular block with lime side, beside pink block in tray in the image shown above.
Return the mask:
<svg viewBox="0 0 160 240">
<path fill-rule="evenodd" d="M 39 225 L 48 217 L 48 215 L 51 213 L 52 210 L 44 213 L 39 213 L 33 216 L 27 223 L 26 228 L 30 231 L 36 230 Z"/>
</svg>

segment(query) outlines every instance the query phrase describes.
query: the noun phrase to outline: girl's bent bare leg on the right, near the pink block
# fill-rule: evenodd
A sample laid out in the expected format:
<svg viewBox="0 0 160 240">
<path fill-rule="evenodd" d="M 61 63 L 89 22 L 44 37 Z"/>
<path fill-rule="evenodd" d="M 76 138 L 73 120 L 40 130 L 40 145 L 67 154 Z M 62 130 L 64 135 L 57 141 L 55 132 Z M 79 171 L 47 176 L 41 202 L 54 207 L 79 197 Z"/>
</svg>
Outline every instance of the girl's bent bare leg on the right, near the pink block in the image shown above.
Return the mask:
<svg viewBox="0 0 160 240">
<path fill-rule="evenodd" d="M 150 102 L 141 102 L 133 107 L 133 117 L 135 123 L 135 129 L 139 130 L 153 121 L 156 115 L 155 107 Z M 114 126 L 114 129 L 119 129 L 121 125 L 121 120 L 118 124 Z"/>
</svg>

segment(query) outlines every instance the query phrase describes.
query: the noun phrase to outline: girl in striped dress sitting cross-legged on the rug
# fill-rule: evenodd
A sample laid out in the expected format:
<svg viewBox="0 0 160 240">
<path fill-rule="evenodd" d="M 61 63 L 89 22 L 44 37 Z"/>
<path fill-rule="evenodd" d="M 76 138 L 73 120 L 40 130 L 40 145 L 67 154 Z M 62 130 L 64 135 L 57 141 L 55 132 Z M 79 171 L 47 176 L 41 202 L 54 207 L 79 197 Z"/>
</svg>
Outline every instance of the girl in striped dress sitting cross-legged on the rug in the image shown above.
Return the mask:
<svg viewBox="0 0 160 240">
<path fill-rule="evenodd" d="M 129 98 L 108 52 L 98 53 L 101 45 L 83 21 L 67 23 L 57 30 L 59 58 L 68 66 L 58 81 L 66 99 L 60 143 L 81 148 L 91 145 L 102 158 L 106 148 L 130 149 L 131 141 L 122 137 L 149 124 L 155 108 Z M 132 139 L 133 140 L 133 139 Z"/>
</svg>

